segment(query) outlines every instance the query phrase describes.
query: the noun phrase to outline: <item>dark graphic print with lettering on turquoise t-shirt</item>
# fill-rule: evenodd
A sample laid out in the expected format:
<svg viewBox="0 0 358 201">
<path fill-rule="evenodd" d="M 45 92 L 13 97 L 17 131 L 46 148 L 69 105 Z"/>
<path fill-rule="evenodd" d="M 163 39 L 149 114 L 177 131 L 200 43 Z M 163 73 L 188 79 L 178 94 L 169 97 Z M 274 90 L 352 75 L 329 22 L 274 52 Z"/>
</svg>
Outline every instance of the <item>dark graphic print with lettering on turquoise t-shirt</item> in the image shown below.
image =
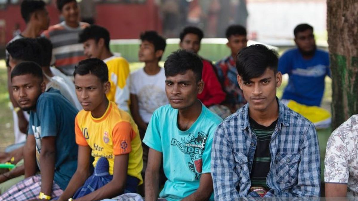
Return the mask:
<svg viewBox="0 0 358 201">
<path fill-rule="evenodd" d="M 195 173 L 195 180 L 200 179 L 203 166 L 203 152 L 208 133 L 198 132 L 197 137 L 194 133 L 189 133 L 188 137 L 181 137 L 180 140 L 172 138 L 170 145 L 176 146 L 185 154 L 190 155 L 191 161 L 188 162 L 189 170 Z"/>
</svg>

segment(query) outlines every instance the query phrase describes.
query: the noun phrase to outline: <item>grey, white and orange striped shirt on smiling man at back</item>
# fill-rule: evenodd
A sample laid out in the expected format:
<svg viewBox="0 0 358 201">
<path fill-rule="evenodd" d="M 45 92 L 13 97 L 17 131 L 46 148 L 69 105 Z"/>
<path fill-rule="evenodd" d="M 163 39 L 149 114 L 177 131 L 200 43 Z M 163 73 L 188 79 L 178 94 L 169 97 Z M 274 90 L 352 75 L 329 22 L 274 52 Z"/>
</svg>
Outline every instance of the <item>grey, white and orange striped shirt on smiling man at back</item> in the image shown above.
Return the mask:
<svg viewBox="0 0 358 201">
<path fill-rule="evenodd" d="M 86 58 L 78 35 L 87 26 L 87 23 L 80 22 L 77 28 L 72 28 L 63 21 L 43 33 L 53 45 L 52 64 L 66 75 L 73 75 L 74 66 Z"/>
</svg>

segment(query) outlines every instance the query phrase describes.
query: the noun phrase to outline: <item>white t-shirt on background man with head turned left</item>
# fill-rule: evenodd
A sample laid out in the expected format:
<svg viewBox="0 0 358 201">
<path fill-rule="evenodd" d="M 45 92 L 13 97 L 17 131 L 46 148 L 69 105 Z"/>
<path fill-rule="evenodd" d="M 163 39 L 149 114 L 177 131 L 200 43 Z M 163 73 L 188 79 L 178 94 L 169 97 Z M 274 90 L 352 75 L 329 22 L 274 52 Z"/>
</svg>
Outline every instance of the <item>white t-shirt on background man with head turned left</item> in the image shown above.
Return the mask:
<svg viewBox="0 0 358 201">
<path fill-rule="evenodd" d="M 130 93 L 137 95 L 139 114 L 148 123 L 157 108 L 169 103 L 165 94 L 164 68 L 155 75 L 146 74 L 144 68 L 132 72 Z"/>
</svg>

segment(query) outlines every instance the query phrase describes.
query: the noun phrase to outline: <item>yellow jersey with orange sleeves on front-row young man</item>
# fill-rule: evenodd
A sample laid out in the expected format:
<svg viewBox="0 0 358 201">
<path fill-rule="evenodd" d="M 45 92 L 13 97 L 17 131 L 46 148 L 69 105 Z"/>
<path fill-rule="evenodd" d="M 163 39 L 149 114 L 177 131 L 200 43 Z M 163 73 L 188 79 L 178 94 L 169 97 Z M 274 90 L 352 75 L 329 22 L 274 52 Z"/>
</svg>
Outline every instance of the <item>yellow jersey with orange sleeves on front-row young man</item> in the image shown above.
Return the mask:
<svg viewBox="0 0 358 201">
<path fill-rule="evenodd" d="M 109 173 L 113 175 L 114 156 L 129 153 L 127 174 L 138 178 L 139 184 L 143 183 L 143 150 L 138 127 L 131 116 L 118 109 L 114 102 L 108 104 L 100 118 L 94 118 L 91 112 L 79 111 L 75 133 L 78 145 L 91 147 L 94 167 L 99 158 L 105 157 L 110 165 Z"/>
</svg>

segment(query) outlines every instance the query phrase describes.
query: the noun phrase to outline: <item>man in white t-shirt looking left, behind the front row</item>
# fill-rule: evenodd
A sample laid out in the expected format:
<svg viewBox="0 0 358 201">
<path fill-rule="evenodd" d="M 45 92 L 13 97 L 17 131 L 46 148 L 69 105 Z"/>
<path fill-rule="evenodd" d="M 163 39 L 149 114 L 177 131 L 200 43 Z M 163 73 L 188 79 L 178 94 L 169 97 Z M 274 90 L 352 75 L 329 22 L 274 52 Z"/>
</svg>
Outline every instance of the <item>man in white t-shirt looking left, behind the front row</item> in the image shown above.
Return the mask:
<svg viewBox="0 0 358 201">
<path fill-rule="evenodd" d="M 145 31 L 140 34 L 140 39 L 138 58 L 140 62 L 144 62 L 144 68 L 131 73 L 130 109 L 138 125 L 140 137 L 143 139 L 153 112 L 160 106 L 168 104 L 168 99 L 165 95 L 164 68 L 159 66 L 166 46 L 165 39 L 155 31 Z M 144 176 L 149 149 L 144 143 L 142 147 Z"/>
</svg>

